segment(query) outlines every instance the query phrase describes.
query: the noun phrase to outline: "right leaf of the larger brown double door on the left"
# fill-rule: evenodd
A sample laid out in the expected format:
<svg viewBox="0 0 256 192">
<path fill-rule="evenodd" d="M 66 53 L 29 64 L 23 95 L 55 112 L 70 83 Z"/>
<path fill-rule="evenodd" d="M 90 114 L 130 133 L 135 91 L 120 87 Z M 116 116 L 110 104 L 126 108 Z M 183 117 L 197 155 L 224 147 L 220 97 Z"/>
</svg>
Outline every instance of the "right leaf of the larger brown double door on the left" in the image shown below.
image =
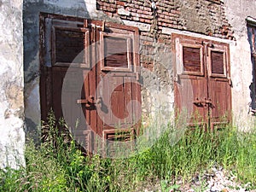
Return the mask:
<svg viewBox="0 0 256 192">
<path fill-rule="evenodd" d="M 102 147 L 113 153 L 113 141 L 133 139 L 141 119 L 141 88 L 139 73 L 137 29 L 101 22 L 93 23 L 93 57 L 96 66 L 90 72 L 90 84 L 96 84 L 90 94 L 95 96 L 96 112 L 90 123 Z M 86 92 L 86 91 L 85 91 Z"/>
</svg>

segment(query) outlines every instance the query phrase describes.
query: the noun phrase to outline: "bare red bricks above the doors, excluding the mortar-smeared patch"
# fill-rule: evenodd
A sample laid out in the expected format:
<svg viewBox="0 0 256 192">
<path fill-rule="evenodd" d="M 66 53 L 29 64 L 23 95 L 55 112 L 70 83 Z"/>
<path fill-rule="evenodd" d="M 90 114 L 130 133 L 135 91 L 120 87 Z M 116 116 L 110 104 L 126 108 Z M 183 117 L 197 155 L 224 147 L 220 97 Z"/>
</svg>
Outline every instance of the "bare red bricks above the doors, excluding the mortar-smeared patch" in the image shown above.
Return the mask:
<svg viewBox="0 0 256 192">
<path fill-rule="evenodd" d="M 184 0 L 191 1 L 192 0 Z M 219 0 L 206 0 L 201 1 L 201 9 L 199 9 L 199 14 L 203 18 L 211 17 L 211 26 L 209 28 L 211 31 L 205 32 L 207 35 L 215 36 L 218 38 L 232 38 L 233 32 L 231 31 L 231 26 L 229 21 L 225 16 L 225 9 L 223 3 L 217 3 Z M 157 3 L 157 26 L 152 26 L 151 32 L 144 32 L 143 36 L 152 38 L 154 37 L 153 32 L 157 32 L 156 36 L 160 37 L 162 27 L 170 27 L 175 29 L 186 30 L 188 27 L 187 23 L 189 20 L 183 20 L 183 15 L 181 11 L 183 9 L 180 3 L 176 3 L 177 0 L 161 0 Z M 213 3 L 209 3 L 213 2 Z M 147 24 L 154 23 L 153 9 L 151 8 L 150 1 L 144 0 L 96 0 L 97 9 L 102 10 L 109 17 L 119 17 L 122 20 L 134 20 Z M 117 9 L 125 8 L 131 12 L 130 16 L 117 15 Z M 191 9 L 192 10 L 192 9 Z M 189 12 L 189 9 L 187 10 Z M 208 13 L 206 15 L 206 13 Z M 183 13 L 184 14 L 184 13 Z M 154 28 L 156 27 L 156 28 Z M 216 29 L 216 30 L 215 30 Z M 155 31 L 156 30 L 156 31 Z M 189 29 L 191 31 L 191 29 Z M 193 29 L 192 29 L 193 31 Z M 196 29 L 195 29 L 196 32 Z M 165 37 L 167 38 L 167 37 Z M 162 39 L 165 39 L 162 38 Z M 160 39 L 161 41 L 161 39 Z M 149 43 L 146 43 L 149 44 Z M 169 44 L 167 41 L 165 44 Z"/>
</svg>

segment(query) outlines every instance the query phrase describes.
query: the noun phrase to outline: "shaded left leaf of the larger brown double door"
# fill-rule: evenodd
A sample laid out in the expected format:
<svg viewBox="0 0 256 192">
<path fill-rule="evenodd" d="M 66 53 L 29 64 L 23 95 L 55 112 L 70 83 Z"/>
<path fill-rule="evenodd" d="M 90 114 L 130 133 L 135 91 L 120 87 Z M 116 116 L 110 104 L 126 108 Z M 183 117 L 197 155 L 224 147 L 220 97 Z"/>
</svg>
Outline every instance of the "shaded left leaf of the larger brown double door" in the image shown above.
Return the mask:
<svg viewBox="0 0 256 192">
<path fill-rule="evenodd" d="M 80 104 L 90 88 L 84 80 L 90 71 L 90 28 L 82 19 L 61 15 L 41 15 L 40 21 L 42 119 L 47 120 L 52 108 L 55 118 L 64 118 L 74 138 L 90 150 L 90 113 L 95 108 Z"/>
</svg>

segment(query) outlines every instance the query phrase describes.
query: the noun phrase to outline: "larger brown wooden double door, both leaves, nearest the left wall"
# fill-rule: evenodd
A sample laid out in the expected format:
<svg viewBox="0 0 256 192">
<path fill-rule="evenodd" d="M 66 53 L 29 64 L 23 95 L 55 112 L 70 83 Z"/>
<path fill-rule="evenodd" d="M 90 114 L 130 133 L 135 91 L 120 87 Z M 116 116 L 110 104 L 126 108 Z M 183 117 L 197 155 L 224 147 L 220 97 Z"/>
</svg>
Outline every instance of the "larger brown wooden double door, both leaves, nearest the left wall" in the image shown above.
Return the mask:
<svg viewBox="0 0 256 192">
<path fill-rule="evenodd" d="M 60 15 L 41 25 L 42 118 L 53 108 L 90 152 L 117 135 L 131 140 L 141 115 L 137 28 Z"/>
</svg>

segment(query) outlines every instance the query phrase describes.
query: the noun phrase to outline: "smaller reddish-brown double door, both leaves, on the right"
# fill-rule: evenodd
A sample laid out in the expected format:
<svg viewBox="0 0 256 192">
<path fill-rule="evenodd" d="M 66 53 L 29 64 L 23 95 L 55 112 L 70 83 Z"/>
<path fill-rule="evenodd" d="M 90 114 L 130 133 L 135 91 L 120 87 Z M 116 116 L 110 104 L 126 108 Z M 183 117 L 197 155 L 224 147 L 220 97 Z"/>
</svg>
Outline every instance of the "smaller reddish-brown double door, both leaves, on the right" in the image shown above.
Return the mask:
<svg viewBox="0 0 256 192">
<path fill-rule="evenodd" d="M 203 129 L 228 124 L 231 110 L 228 45 L 181 35 L 172 38 L 177 117 L 183 116 L 189 127 Z"/>
</svg>

